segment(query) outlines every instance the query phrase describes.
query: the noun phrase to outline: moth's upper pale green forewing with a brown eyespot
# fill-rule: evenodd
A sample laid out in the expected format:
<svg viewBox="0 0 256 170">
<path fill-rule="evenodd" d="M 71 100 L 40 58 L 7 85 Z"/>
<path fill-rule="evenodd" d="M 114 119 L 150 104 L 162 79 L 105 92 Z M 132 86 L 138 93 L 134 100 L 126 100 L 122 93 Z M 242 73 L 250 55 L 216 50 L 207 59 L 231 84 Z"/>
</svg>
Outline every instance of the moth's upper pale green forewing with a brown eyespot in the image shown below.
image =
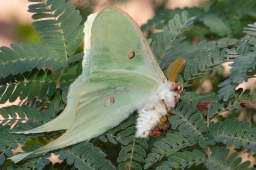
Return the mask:
<svg viewBox="0 0 256 170">
<path fill-rule="evenodd" d="M 139 27 L 125 13 L 108 8 L 93 23 L 91 71 L 133 71 L 166 80 Z"/>
</svg>

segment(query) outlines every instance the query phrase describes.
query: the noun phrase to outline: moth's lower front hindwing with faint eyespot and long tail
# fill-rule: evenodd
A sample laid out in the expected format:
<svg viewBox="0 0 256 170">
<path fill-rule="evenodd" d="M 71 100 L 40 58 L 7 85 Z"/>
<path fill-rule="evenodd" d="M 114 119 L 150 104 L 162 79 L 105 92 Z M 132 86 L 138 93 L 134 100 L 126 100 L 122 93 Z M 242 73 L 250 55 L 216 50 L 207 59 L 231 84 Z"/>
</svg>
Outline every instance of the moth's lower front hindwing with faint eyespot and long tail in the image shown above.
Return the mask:
<svg viewBox="0 0 256 170">
<path fill-rule="evenodd" d="M 157 88 L 154 81 L 137 74 L 102 73 L 102 76 L 105 81 L 92 79 L 76 89 L 80 93 L 76 96 L 78 101 L 73 108 L 76 111 L 75 119 L 62 136 L 33 152 L 15 155 L 10 159 L 17 163 L 27 156 L 65 148 L 97 137 L 120 124 L 141 107 Z M 134 89 L 133 86 L 137 88 Z"/>
</svg>

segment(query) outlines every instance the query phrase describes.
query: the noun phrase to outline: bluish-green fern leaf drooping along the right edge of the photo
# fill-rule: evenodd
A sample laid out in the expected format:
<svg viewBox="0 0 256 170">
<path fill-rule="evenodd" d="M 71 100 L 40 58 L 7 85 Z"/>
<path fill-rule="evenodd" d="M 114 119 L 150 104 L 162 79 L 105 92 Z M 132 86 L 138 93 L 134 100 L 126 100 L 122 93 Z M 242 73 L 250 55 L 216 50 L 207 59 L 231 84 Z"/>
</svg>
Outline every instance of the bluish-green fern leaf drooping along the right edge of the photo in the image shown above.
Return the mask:
<svg viewBox="0 0 256 170">
<path fill-rule="evenodd" d="M 227 101 L 235 96 L 235 87 L 246 81 L 249 77 L 255 74 L 256 70 L 256 37 L 254 36 L 256 29 L 255 25 L 249 25 L 245 28 L 247 35 L 233 49 L 238 56 L 232 61 L 231 73 L 228 79 L 223 81 L 219 86 L 219 96 L 224 101 Z"/>
</svg>

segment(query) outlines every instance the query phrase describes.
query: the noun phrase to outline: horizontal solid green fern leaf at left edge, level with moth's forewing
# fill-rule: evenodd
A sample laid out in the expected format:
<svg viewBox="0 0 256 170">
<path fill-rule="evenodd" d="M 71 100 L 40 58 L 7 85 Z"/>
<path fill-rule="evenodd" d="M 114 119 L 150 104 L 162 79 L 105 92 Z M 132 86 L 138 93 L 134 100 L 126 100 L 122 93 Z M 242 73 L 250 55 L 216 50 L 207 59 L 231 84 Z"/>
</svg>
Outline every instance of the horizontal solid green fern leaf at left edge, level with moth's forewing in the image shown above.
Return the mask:
<svg viewBox="0 0 256 170">
<path fill-rule="evenodd" d="M 13 44 L 11 48 L 0 48 L 0 78 L 22 74 L 34 68 L 58 68 L 58 56 L 55 52 L 37 44 Z M 22 67 L 21 67 L 22 66 Z"/>
</svg>

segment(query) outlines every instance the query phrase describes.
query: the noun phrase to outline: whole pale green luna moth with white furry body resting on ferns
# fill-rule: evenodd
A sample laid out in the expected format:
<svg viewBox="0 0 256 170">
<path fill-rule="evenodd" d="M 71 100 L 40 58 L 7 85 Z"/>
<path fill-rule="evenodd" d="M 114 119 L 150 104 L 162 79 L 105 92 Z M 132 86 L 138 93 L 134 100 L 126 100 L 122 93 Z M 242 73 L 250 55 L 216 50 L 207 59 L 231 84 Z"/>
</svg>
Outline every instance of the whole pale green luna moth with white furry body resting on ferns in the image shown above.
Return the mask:
<svg viewBox="0 0 256 170">
<path fill-rule="evenodd" d="M 95 138 L 138 111 L 136 137 L 147 137 L 162 115 L 175 106 L 179 92 L 160 69 L 135 22 L 109 7 L 85 23 L 83 72 L 72 83 L 67 105 L 55 119 L 18 134 L 66 130 L 32 152 L 11 157 L 15 163 Z"/>
</svg>

